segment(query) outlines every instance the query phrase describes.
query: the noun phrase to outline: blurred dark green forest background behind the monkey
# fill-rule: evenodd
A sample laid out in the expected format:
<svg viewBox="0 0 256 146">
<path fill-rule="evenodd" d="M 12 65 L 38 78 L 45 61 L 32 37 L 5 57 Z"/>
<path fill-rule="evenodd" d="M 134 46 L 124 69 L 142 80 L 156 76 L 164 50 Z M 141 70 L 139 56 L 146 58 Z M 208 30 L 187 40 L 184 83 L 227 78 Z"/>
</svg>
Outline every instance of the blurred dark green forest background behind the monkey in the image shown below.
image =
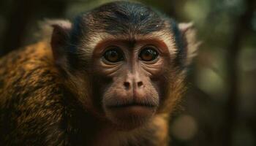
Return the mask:
<svg viewBox="0 0 256 146">
<path fill-rule="evenodd" d="M 39 20 L 73 18 L 110 0 L 0 0 L 0 56 L 36 41 Z M 170 121 L 172 146 L 256 145 L 256 1 L 141 0 L 203 41 Z"/>
</svg>

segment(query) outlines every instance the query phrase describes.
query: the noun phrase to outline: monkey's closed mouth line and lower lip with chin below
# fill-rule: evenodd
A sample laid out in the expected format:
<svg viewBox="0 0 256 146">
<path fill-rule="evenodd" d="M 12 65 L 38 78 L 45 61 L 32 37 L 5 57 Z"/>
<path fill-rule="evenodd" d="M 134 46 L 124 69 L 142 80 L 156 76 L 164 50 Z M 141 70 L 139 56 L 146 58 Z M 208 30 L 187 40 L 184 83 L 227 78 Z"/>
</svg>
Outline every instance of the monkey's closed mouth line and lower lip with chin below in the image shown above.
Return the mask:
<svg viewBox="0 0 256 146">
<path fill-rule="evenodd" d="M 157 110 L 157 103 L 149 101 L 116 101 L 107 102 L 107 117 L 119 128 L 136 128 L 150 119 Z"/>
</svg>

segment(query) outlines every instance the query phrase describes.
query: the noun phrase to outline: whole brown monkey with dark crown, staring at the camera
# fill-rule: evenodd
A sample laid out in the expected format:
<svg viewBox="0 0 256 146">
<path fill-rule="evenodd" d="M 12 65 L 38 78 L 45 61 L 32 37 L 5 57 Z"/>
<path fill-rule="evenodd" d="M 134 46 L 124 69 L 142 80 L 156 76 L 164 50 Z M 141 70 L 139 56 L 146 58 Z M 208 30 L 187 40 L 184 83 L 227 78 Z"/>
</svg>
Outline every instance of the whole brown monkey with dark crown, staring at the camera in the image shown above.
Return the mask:
<svg viewBox="0 0 256 146">
<path fill-rule="evenodd" d="M 0 59 L 0 145 L 168 145 L 192 24 L 116 1 L 48 25 Z"/>
</svg>

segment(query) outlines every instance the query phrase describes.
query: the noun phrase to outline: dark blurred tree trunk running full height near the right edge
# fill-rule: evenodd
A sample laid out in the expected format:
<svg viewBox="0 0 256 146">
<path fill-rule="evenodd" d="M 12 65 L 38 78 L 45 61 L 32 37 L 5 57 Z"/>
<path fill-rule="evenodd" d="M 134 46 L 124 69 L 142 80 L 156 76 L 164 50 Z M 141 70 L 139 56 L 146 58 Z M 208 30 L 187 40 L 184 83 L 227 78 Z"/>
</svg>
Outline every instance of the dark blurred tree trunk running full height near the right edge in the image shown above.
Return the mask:
<svg viewBox="0 0 256 146">
<path fill-rule="evenodd" d="M 238 113 L 238 54 L 241 50 L 241 42 L 249 31 L 255 10 L 255 0 L 246 0 L 246 9 L 244 14 L 238 18 L 233 31 L 230 45 L 227 46 L 227 105 L 225 107 L 226 121 L 223 125 L 222 145 L 233 145 L 233 129 L 236 123 L 236 114 Z"/>
</svg>

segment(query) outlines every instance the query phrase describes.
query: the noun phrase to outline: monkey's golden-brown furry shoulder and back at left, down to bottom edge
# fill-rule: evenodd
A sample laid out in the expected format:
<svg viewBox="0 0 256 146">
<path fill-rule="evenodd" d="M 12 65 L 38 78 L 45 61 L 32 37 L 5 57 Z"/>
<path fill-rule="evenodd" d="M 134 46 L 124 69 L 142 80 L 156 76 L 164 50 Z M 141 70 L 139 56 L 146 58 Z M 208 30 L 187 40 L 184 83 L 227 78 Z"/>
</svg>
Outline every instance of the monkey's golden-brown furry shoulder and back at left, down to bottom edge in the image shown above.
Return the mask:
<svg viewBox="0 0 256 146">
<path fill-rule="evenodd" d="M 0 141 L 61 143 L 64 91 L 59 80 L 46 42 L 0 59 Z"/>
</svg>

